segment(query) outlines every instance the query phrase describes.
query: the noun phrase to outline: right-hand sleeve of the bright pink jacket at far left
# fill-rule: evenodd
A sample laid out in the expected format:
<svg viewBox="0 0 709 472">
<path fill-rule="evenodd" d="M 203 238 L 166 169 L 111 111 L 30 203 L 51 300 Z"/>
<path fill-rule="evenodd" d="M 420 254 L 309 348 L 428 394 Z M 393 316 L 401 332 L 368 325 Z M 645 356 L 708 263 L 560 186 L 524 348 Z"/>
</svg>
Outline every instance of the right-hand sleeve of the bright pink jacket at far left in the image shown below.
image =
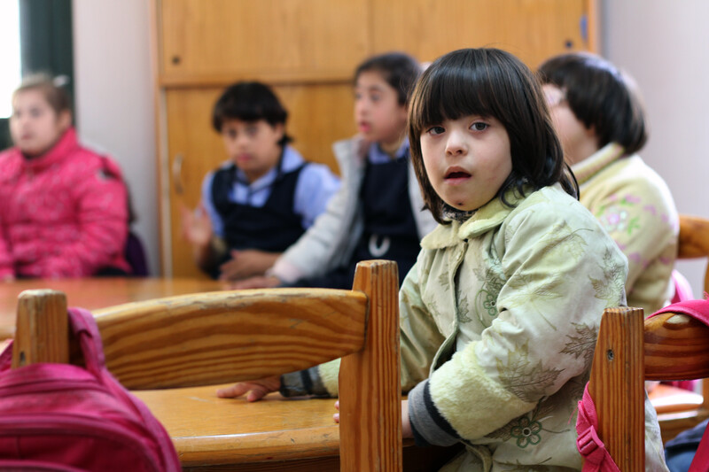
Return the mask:
<svg viewBox="0 0 709 472">
<path fill-rule="evenodd" d="M 43 262 L 43 277 L 94 275 L 121 254 L 128 237 L 128 195 L 121 170 L 108 159 L 90 166 L 74 182 L 73 199 L 81 236 L 57 244 Z"/>
</svg>

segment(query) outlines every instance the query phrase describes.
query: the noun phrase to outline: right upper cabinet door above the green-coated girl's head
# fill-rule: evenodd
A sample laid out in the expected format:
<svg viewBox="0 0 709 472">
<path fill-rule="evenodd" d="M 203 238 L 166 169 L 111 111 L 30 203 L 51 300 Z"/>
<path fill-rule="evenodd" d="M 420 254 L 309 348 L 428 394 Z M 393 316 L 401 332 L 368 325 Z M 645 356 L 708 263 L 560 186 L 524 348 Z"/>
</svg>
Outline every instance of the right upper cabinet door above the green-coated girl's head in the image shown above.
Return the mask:
<svg viewBox="0 0 709 472">
<path fill-rule="evenodd" d="M 375 2 L 374 50 L 431 61 L 450 50 L 509 50 L 533 69 L 566 50 L 588 50 L 585 0 L 388 0 Z M 588 20 L 588 19 L 587 19 Z"/>
</svg>

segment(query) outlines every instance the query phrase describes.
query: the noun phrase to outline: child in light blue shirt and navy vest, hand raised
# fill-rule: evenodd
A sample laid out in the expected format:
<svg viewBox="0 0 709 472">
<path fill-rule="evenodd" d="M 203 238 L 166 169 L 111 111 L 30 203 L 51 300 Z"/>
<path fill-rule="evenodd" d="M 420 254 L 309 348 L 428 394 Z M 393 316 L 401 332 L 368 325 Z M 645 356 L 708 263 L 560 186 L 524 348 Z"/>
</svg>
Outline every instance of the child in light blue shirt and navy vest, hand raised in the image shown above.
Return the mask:
<svg viewBox="0 0 709 472">
<path fill-rule="evenodd" d="M 206 175 L 198 211 L 183 211 L 195 261 L 214 278 L 262 275 L 339 189 L 327 166 L 288 145 L 287 116 L 260 82 L 235 83 L 214 104 L 212 124 L 230 161 Z"/>
</svg>

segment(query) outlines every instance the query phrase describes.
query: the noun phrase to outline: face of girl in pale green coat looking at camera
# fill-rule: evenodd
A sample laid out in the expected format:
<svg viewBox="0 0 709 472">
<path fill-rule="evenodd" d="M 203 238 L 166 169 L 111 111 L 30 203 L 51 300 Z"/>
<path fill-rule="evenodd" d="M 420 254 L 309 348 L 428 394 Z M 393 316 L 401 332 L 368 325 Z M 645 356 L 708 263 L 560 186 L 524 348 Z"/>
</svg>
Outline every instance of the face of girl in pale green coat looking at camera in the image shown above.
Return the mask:
<svg viewBox="0 0 709 472">
<path fill-rule="evenodd" d="M 445 120 L 426 128 L 420 142 L 433 190 L 458 210 L 487 204 L 512 172 L 510 136 L 495 118 Z"/>
</svg>

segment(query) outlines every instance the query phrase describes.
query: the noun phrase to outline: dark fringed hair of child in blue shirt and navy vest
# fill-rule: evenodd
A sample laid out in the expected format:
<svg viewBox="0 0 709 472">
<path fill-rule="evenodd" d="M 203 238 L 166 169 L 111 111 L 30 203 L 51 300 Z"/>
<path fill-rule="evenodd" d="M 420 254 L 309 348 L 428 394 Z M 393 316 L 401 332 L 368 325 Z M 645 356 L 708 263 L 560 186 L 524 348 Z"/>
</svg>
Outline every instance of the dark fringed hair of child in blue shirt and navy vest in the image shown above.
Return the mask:
<svg viewBox="0 0 709 472">
<path fill-rule="evenodd" d="M 277 124 L 285 126 L 287 119 L 288 112 L 268 85 L 257 81 L 242 81 L 230 85 L 214 104 L 212 127 L 221 133 L 225 120 L 266 120 L 274 127 Z M 284 146 L 291 141 L 292 137 L 284 132 L 278 144 Z"/>
</svg>

